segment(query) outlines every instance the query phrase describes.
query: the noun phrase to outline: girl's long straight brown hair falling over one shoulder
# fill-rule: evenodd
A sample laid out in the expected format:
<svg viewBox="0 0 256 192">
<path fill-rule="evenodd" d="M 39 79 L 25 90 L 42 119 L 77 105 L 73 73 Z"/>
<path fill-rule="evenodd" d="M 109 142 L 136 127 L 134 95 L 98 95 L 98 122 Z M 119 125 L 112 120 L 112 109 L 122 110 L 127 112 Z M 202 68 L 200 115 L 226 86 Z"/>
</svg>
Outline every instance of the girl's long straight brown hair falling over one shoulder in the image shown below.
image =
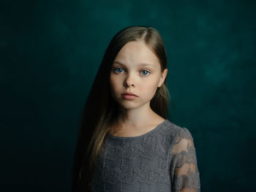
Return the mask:
<svg viewBox="0 0 256 192">
<path fill-rule="evenodd" d="M 119 50 L 127 42 L 143 40 L 159 59 L 162 72 L 167 68 L 165 45 L 155 28 L 129 26 L 119 31 L 110 41 L 89 96 L 83 107 L 73 167 L 72 192 L 90 191 L 95 161 L 105 135 L 117 116 L 118 105 L 110 94 L 110 70 Z M 150 106 L 162 118 L 168 117 L 170 94 L 165 82 L 151 99 Z"/>
</svg>

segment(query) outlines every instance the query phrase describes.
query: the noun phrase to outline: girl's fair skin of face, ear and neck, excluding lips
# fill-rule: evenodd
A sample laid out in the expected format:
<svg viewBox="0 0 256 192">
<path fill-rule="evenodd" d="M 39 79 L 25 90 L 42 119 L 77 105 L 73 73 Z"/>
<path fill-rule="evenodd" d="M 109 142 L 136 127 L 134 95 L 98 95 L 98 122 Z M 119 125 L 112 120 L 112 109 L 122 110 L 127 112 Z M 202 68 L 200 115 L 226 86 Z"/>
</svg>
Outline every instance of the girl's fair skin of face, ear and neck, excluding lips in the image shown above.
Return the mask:
<svg viewBox="0 0 256 192">
<path fill-rule="evenodd" d="M 166 75 L 167 69 L 161 72 L 157 55 L 144 41 L 128 42 L 121 48 L 110 72 L 110 92 L 119 106 L 119 116 L 111 134 L 118 137 L 140 136 L 165 120 L 151 110 L 150 101 Z M 138 97 L 124 99 L 121 93 L 126 91 Z"/>
</svg>

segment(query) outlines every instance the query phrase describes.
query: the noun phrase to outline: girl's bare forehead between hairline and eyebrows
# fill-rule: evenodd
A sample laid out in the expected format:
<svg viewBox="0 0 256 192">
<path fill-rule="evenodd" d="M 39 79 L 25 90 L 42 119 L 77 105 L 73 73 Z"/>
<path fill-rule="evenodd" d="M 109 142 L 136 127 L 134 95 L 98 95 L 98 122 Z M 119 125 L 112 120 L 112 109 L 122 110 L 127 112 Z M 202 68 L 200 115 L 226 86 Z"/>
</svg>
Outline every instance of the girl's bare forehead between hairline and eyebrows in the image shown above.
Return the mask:
<svg viewBox="0 0 256 192">
<path fill-rule="evenodd" d="M 140 64 L 159 66 L 157 55 L 143 41 L 128 42 L 116 55 L 114 64 Z"/>
</svg>

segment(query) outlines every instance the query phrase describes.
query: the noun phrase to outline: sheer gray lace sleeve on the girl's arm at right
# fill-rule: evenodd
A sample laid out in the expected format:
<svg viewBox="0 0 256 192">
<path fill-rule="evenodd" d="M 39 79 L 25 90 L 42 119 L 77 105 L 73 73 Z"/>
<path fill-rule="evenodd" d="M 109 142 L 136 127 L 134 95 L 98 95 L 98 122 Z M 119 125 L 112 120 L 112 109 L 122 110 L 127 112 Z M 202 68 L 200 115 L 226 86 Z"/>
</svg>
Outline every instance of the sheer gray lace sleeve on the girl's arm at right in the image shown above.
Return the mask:
<svg viewBox="0 0 256 192">
<path fill-rule="evenodd" d="M 172 191 L 200 192 L 195 146 L 187 128 L 178 131 L 171 153 Z"/>
</svg>

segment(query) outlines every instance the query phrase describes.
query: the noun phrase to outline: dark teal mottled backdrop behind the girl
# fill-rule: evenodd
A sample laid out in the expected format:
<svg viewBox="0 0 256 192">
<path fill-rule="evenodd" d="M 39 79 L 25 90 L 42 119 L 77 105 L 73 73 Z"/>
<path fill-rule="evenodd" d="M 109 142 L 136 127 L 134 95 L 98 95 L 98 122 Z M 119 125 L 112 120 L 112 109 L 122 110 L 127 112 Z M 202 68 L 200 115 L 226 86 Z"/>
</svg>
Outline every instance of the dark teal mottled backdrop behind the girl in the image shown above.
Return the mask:
<svg viewBox="0 0 256 192">
<path fill-rule="evenodd" d="M 71 191 L 80 112 L 110 39 L 153 26 L 170 120 L 194 138 L 201 191 L 255 191 L 255 1 L 0 2 L 1 189 Z"/>
</svg>

